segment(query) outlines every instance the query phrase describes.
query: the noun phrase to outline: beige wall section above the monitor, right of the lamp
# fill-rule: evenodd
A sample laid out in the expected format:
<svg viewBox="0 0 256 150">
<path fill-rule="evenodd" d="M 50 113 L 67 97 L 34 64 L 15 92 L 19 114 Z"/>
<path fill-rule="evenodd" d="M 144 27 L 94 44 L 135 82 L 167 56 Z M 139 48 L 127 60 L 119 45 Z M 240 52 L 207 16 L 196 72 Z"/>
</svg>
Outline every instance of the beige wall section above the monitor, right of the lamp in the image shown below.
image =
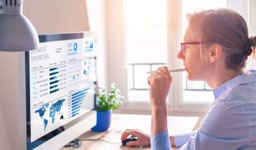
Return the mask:
<svg viewBox="0 0 256 150">
<path fill-rule="evenodd" d="M 90 30 L 84 0 L 24 0 L 23 13 L 38 34 Z"/>
</svg>

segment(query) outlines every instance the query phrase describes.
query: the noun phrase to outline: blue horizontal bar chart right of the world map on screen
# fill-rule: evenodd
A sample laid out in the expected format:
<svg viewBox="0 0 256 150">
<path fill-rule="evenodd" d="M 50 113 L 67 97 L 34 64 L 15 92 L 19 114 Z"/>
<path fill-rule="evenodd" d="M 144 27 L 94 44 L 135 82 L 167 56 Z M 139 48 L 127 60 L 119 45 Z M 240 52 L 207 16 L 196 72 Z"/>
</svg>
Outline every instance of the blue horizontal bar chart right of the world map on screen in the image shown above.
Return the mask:
<svg viewBox="0 0 256 150">
<path fill-rule="evenodd" d="M 83 89 L 79 92 L 75 92 L 72 94 L 71 101 L 72 101 L 72 117 L 75 117 L 75 115 L 79 114 L 79 110 L 81 108 L 81 104 L 85 99 L 85 96 L 87 95 L 87 92 L 90 88 Z"/>
</svg>

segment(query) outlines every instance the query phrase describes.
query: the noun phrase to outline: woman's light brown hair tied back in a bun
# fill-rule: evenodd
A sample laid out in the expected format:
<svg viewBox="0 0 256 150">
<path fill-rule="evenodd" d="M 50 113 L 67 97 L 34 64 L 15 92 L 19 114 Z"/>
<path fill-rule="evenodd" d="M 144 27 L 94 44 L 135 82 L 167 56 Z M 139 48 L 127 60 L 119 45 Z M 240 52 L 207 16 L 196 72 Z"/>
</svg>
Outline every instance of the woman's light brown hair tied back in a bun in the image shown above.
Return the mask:
<svg viewBox="0 0 256 150">
<path fill-rule="evenodd" d="M 255 56 L 256 36 L 248 37 L 245 20 L 236 11 L 227 8 L 202 10 L 187 14 L 187 20 L 206 46 L 212 43 L 222 46 L 227 68 L 240 70 L 245 67 L 248 55 Z"/>
</svg>

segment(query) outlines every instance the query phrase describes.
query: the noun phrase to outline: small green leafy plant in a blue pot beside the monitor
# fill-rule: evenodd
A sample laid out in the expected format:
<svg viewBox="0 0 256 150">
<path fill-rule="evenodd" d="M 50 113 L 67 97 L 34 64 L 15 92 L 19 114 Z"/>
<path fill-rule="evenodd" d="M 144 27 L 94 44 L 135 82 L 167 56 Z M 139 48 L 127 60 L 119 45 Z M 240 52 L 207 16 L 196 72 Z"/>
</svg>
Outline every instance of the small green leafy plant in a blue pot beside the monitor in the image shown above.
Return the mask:
<svg viewBox="0 0 256 150">
<path fill-rule="evenodd" d="M 97 119 L 96 125 L 91 128 L 95 132 L 108 130 L 111 124 L 112 110 L 117 110 L 123 101 L 123 96 L 118 89 L 117 83 L 110 83 L 110 89 L 107 93 L 105 89 L 99 88 L 96 101 Z"/>
</svg>

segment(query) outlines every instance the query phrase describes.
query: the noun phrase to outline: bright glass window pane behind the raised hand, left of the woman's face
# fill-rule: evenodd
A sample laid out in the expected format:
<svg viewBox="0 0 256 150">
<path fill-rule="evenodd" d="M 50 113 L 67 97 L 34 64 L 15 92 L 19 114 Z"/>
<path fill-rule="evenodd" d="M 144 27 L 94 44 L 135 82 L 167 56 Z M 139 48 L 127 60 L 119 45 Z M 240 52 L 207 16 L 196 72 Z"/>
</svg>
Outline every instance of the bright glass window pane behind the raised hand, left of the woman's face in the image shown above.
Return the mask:
<svg viewBox="0 0 256 150">
<path fill-rule="evenodd" d="M 127 0 L 125 7 L 128 101 L 148 102 L 146 72 L 167 61 L 166 0 Z"/>
</svg>

